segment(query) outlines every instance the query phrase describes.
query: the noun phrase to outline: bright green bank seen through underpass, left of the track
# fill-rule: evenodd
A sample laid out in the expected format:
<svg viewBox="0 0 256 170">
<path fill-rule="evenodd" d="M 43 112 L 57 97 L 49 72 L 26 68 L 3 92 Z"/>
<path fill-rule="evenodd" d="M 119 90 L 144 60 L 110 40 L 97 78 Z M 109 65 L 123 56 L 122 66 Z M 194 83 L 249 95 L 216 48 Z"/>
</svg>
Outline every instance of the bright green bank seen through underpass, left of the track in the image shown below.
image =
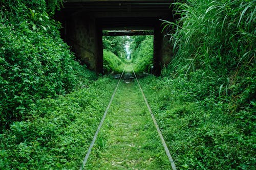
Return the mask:
<svg viewBox="0 0 256 170">
<path fill-rule="evenodd" d="M 104 73 L 108 72 L 122 72 L 124 68 L 124 62 L 118 58 L 114 53 L 103 50 L 103 69 Z"/>
</svg>

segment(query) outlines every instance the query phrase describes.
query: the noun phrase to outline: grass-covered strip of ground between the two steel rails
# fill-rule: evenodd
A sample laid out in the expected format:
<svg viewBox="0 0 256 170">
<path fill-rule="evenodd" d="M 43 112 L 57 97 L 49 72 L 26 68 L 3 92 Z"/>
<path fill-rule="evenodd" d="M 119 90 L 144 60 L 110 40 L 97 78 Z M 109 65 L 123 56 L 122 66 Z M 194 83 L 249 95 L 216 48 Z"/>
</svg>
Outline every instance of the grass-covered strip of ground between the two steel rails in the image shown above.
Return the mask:
<svg viewBox="0 0 256 170">
<path fill-rule="evenodd" d="M 84 169 L 172 169 L 136 82 L 120 82 Z"/>
</svg>

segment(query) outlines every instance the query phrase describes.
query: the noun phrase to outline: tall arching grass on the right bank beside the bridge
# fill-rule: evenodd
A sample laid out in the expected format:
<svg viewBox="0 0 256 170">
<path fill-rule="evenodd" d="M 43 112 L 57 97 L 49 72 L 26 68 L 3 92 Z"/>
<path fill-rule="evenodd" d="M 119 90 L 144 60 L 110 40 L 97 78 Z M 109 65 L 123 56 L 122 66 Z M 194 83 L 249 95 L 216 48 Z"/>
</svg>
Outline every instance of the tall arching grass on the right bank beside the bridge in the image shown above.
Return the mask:
<svg viewBox="0 0 256 170">
<path fill-rule="evenodd" d="M 255 102 L 255 1 L 186 1 L 174 3 L 177 22 L 165 21 L 176 51 L 166 75 L 189 77 L 198 69 L 226 79 L 219 95 L 232 97 L 234 111 Z M 223 93 L 225 91 L 225 93 Z"/>
</svg>

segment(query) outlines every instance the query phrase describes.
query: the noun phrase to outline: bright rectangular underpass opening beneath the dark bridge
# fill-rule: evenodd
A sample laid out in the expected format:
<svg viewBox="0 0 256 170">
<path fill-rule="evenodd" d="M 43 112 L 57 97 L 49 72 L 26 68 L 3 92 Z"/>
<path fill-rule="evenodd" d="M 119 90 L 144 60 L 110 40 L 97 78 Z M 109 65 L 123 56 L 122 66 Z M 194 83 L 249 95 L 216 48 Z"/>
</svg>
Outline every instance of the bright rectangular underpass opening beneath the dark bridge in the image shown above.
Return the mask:
<svg viewBox="0 0 256 170">
<path fill-rule="evenodd" d="M 127 64 L 136 72 L 152 73 L 153 35 L 153 30 L 104 30 L 103 74 L 122 72 Z"/>
</svg>

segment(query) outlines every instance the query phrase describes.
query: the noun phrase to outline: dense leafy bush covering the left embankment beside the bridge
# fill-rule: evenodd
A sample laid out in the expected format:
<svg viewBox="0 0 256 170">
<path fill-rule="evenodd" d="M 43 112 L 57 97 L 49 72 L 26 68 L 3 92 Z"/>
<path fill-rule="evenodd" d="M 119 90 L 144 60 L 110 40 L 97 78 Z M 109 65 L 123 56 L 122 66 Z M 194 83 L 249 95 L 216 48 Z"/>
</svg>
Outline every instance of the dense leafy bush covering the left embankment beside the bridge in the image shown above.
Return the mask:
<svg viewBox="0 0 256 170">
<path fill-rule="evenodd" d="M 26 118 L 29 105 L 86 85 L 90 74 L 75 62 L 51 19 L 62 1 L 0 3 L 1 130 Z M 48 13 L 47 13 L 48 12 Z"/>
</svg>

